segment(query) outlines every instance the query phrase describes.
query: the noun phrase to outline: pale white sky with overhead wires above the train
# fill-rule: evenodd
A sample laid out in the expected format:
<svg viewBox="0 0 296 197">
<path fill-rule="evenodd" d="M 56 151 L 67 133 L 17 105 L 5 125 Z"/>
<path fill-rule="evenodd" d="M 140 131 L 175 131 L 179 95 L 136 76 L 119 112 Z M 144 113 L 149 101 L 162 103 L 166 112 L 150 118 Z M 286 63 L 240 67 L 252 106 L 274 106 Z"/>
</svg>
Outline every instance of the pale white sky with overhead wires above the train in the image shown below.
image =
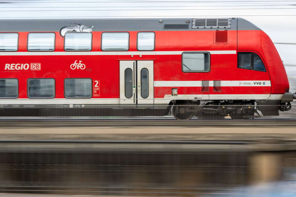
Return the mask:
<svg viewBox="0 0 296 197">
<path fill-rule="evenodd" d="M 296 65 L 295 0 L 0 0 L 0 11 L 0 19 L 242 17 L 275 43 L 294 43 L 276 44 L 276 48 L 285 64 Z"/>
</svg>

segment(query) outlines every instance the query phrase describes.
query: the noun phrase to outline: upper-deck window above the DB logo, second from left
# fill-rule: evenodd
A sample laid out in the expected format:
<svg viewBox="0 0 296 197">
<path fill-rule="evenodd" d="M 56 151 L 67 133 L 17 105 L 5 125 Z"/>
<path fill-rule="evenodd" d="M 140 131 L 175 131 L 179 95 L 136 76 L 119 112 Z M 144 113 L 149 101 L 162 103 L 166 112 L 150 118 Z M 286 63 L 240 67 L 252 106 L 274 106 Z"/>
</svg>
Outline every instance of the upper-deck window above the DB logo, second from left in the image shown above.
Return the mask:
<svg viewBox="0 0 296 197">
<path fill-rule="evenodd" d="M 54 51 L 54 33 L 29 33 L 28 51 Z"/>
</svg>

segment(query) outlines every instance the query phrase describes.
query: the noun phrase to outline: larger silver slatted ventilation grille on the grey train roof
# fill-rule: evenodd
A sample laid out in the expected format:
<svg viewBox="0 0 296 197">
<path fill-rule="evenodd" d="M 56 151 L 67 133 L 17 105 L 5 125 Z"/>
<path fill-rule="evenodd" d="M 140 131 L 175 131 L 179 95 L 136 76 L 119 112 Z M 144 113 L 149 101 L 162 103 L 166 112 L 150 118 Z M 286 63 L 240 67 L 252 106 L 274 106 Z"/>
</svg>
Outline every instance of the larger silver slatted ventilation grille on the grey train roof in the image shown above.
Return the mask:
<svg viewBox="0 0 296 197">
<path fill-rule="evenodd" d="M 193 19 L 192 29 L 231 28 L 231 18 Z"/>
</svg>

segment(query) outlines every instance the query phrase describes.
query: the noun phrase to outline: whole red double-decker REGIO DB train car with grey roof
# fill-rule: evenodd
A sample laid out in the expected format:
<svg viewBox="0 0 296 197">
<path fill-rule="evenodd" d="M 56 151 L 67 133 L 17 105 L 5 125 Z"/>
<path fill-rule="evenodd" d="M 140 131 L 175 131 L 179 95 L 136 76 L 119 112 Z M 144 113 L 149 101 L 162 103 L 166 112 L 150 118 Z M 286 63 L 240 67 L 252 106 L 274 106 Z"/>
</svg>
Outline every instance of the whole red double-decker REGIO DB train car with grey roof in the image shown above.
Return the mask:
<svg viewBox="0 0 296 197">
<path fill-rule="evenodd" d="M 1 20 L 0 58 L 1 116 L 237 119 L 295 98 L 271 39 L 242 18 Z"/>
</svg>

